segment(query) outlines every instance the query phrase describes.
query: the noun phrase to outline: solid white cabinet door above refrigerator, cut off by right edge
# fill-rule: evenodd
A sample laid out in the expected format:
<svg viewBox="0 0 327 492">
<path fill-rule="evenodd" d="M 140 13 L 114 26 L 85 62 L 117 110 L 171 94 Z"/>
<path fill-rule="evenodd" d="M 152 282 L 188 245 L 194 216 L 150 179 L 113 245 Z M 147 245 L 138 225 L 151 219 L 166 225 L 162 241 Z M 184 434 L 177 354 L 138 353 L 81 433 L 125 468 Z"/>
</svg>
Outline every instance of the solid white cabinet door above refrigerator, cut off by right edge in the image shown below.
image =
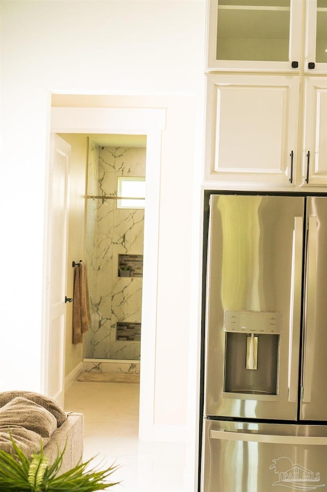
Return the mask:
<svg viewBox="0 0 327 492">
<path fill-rule="evenodd" d="M 327 78 L 305 80 L 302 184 L 327 184 Z M 308 153 L 309 166 L 308 166 Z"/>
</svg>

